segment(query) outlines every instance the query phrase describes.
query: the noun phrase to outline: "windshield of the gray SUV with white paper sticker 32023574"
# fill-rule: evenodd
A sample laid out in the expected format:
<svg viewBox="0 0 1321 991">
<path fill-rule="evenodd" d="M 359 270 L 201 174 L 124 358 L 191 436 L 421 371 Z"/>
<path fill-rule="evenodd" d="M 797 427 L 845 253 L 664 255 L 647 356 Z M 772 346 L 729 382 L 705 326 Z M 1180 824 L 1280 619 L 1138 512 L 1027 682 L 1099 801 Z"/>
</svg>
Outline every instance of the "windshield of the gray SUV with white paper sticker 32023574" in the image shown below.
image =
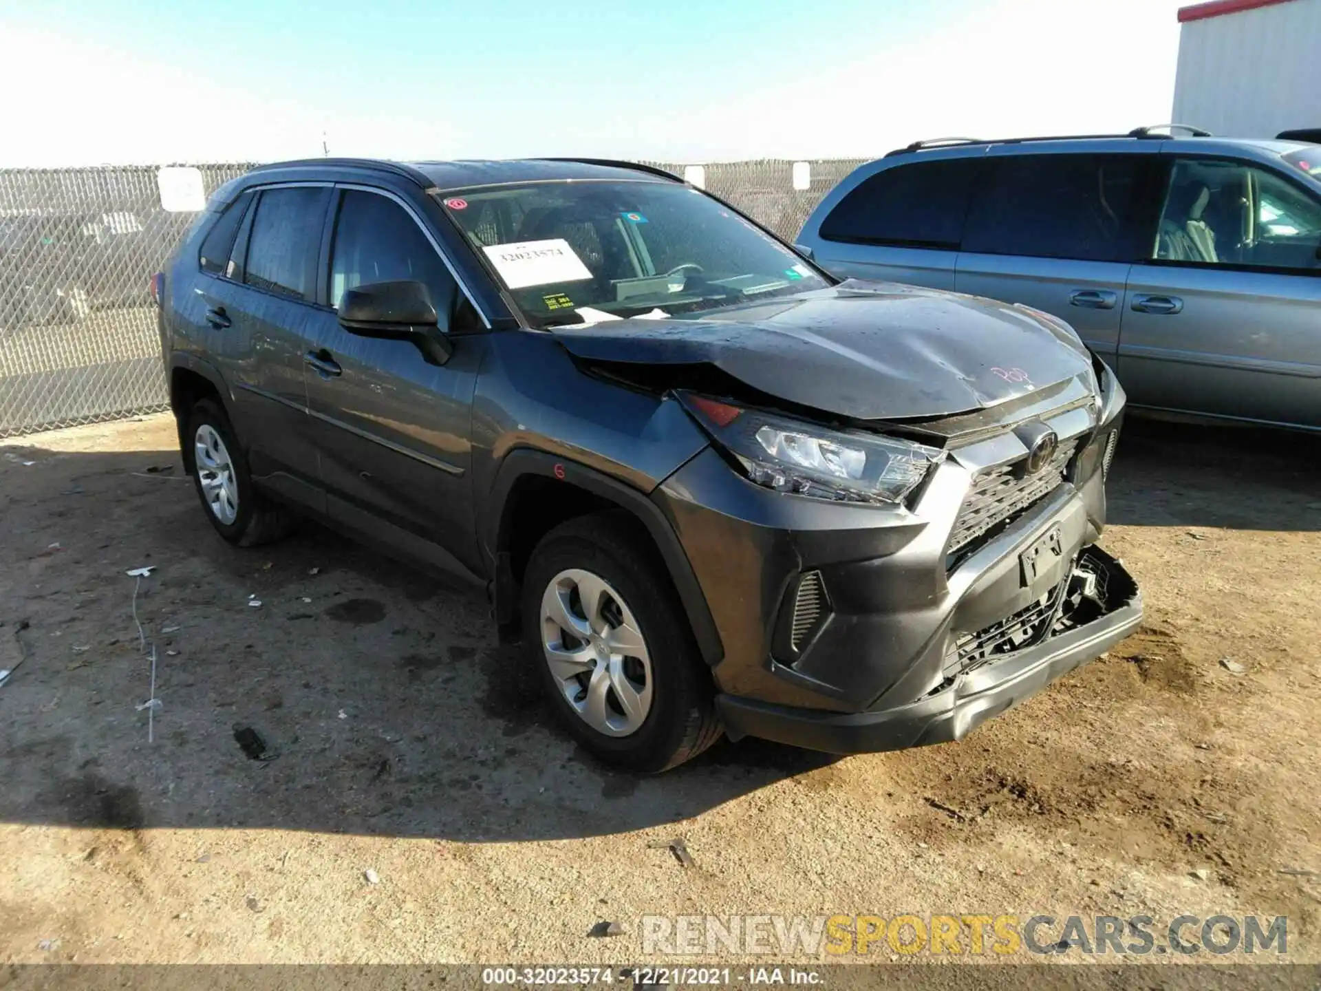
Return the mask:
<svg viewBox="0 0 1321 991">
<path fill-rule="evenodd" d="M 450 192 L 441 202 L 532 326 L 659 318 L 828 284 L 679 184 L 528 182 Z"/>
</svg>

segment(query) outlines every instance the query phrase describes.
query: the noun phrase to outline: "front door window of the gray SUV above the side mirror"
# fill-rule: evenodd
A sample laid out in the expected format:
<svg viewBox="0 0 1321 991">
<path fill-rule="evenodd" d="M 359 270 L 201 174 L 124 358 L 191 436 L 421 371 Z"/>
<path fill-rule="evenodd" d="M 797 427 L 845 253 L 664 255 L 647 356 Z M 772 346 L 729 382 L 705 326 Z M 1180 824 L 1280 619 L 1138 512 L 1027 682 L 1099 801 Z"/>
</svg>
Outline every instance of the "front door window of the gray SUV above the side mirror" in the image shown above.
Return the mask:
<svg viewBox="0 0 1321 991">
<path fill-rule="evenodd" d="M 330 262 L 330 303 L 367 283 L 416 280 L 431 292 L 437 313 L 448 313 L 457 285 L 417 222 L 388 197 L 343 193 Z"/>
</svg>

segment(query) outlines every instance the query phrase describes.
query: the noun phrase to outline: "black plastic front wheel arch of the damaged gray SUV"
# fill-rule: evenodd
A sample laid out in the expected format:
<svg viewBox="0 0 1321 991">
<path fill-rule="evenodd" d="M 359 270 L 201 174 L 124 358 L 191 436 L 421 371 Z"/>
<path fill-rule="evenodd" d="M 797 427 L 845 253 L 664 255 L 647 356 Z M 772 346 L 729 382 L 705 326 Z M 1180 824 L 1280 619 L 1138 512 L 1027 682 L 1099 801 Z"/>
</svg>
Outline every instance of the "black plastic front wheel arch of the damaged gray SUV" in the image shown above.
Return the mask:
<svg viewBox="0 0 1321 991">
<path fill-rule="evenodd" d="M 642 492 L 596 469 L 543 451 L 510 452 L 491 486 L 482 546 L 494 556 L 493 601 L 503 640 L 518 636 L 518 597 L 536 542 L 555 526 L 602 510 L 622 510 L 655 544 L 692 626 L 703 659 L 716 665 L 724 646 L 707 597 L 674 526 Z"/>
</svg>

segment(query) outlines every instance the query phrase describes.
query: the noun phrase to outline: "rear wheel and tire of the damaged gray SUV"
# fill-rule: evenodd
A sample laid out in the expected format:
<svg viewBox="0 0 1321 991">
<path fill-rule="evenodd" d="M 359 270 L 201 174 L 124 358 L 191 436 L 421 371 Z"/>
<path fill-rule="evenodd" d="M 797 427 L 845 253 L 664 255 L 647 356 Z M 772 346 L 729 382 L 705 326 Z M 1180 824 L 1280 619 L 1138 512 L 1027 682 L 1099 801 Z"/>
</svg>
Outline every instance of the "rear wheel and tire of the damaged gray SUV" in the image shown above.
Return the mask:
<svg viewBox="0 0 1321 991">
<path fill-rule="evenodd" d="M 185 443 L 193 457 L 197 495 L 215 532 L 238 547 L 256 547 L 293 529 L 293 513 L 252 485 L 247 456 L 219 403 L 210 399 L 194 403 Z"/>
</svg>

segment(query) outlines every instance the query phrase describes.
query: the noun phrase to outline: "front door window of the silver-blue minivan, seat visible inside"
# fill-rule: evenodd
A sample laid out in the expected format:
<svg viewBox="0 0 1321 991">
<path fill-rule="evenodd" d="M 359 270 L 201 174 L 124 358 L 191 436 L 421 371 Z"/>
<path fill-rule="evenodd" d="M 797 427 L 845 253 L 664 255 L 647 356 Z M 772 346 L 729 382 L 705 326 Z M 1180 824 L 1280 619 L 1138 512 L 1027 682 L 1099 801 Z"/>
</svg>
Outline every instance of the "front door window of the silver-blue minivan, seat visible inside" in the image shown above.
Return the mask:
<svg viewBox="0 0 1321 991">
<path fill-rule="evenodd" d="M 1316 271 L 1321 202 L 1273 172 L 1213 159 L 1170 170 L 1153 256 L 1169 262 Z"/>
</svg>

